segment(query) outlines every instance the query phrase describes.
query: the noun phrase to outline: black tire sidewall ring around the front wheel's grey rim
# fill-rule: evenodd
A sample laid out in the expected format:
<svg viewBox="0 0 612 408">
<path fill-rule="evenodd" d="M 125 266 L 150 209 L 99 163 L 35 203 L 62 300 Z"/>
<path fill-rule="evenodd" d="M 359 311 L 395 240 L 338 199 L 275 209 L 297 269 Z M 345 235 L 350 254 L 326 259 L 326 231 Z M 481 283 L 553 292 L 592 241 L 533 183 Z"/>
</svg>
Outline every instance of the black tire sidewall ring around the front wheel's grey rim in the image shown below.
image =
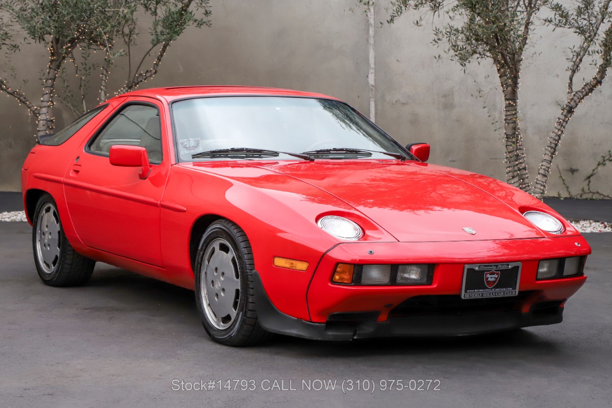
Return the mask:
<svg viewBox="0 0 612 408">
<path fill-rule="evenodd" d="M 204 254 L 206 253 L 206 248 L 208 245 L 217 238 L 223 238 L 228 243 L 230 243 L 232 249 L 234 250 L 234 254 L 236 254 L 236 263 L 239 268 L 240 273 L 240 299 L 238 302 L 238 307 L 236 311 L 236 317 L 234 321 L 231 323 L 230 327 L 225 328 L 223 330 L 219 330 L 214 327 L 207 319 L 206 312 L 204 311 L 203 306 L 203 292 L 201 290 L 201 280 L 203 278 L 202 264 L 204 262 Z M 247 297 L 250 296 L 248 293 L 248 280 L 247 273 L 249 273 L 248 265 L 245 262 L 244 252 L 242 248 L 237 244 L 237 237 L 234 236 L 234 232 L 231 231 L 225 224 L 223 223 L 214 223 L 212 224 L 204 233 L 204 236 L 200 240 L 200 245 L 198 245 L 198 254 L 196 256 L 195 262 L 195 297 L 196 304 L 198 306 L 198 313 L 200 313 L 200 317 L 202 320 L 202 324 L 204 329 L 208 333 L 211 338 L 219 343 L 223 344 L 231 344 L 234 343 L 233 339 L 237 336 L 239 332 L 242 321 L 244 319 L 245 314 L 245 305 L 247 302 Z"/>
</svg>

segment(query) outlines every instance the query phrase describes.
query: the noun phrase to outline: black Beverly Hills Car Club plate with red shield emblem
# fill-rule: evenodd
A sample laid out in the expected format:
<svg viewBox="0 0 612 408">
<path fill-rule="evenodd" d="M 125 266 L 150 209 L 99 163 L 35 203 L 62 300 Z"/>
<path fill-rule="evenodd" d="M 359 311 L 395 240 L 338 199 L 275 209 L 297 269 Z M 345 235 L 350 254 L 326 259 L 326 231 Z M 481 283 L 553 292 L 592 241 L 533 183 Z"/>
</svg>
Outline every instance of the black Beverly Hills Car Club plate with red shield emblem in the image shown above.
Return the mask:
<svg viewBox="0 0 612 408">
<path fill-rule="evenodd" d="M 520 278 L 521 262 L 465 265 L 461 298 L 516 296 Z"/>
</svg>

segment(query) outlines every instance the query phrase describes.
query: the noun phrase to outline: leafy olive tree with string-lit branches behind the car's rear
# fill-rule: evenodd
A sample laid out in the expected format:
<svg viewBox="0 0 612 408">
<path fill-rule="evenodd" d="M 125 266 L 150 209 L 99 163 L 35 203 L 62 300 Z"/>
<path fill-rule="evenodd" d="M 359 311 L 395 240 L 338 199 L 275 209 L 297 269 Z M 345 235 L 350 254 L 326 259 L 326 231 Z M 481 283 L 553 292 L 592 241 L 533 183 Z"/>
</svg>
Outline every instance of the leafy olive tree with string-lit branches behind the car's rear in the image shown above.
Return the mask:
<svg viewBox="0 0 612 408">
<path fill-rule="evenodd" d="M 150 48 L 132 67 L 132 50 L 138 37 L 138 16 L 151 21 Z M 78 88 L 82 106 L 86 110 L 85 85 L 100 70 L 99 100 L 106 100 L 110 66 L 118 59 L 127 59 L 128 76 L 116 94 L 130 91 L 152 78 L 173 40 L 190 25 L 209 26 L 209 0 L 0 0 L 0 49 L 6 56 L 18 54 L 26 44 L 40 44 L 47 48 L 48 62 L 42 70 L 40 102 L 30 99 L 21 86 L 9 84 L 16 80 L 0 73 L 0 90 L 24 105 L 37 118 L 37 136 L 53 128 L 52 108 L 56 99 L 70 105 L 73 87 Z M 103 58 L 96 60 L 91 51 L 101 50 Z M 154 53 L 155 59 L 146 62 Z M 69 64 L 66 64 L 69 62 Z M 150 64 L 150 65 L 149 65 Z M 78 84 L 65 81 L 64 94 L 58 93 L 58 78 L 73 65 Z M 71 68 L 72 69 L 72 68 Z M 9 73 L 10 74 L 10 73 Z M 62 97 L 63 96 L 63 97 Z"/>
</svg>

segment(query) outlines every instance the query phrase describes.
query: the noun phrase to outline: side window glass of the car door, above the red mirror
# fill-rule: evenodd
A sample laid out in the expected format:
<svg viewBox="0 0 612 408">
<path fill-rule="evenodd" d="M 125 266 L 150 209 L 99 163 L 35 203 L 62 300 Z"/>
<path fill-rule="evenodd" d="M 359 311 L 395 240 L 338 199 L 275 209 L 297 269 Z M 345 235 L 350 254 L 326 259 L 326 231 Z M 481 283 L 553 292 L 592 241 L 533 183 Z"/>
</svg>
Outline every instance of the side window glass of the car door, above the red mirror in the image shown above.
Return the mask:
<svg viewBox="0 0 612 408">
<path fill-rule="evenodd" d="M 89 145 L 91 152 L 108 155 L 111 146 L 128 144 L 147 150 L 151 163 L 162 162 L 162 127 L 159 109 L 128 105 L 102 129 Z"/>
</svg>

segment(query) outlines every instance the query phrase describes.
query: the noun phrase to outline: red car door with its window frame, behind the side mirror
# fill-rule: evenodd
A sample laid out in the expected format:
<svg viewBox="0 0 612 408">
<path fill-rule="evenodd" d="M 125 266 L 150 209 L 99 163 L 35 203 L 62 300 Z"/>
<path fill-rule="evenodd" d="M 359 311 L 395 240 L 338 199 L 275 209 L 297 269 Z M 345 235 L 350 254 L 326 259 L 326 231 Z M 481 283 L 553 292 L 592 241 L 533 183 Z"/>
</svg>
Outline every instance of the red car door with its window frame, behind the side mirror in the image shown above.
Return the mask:
<svg viewBox="0 0 612 408">
<path fill-rule="evenodd" d="M 152 98 L 127 98 L 75 155 L 64 177 L 70 218 L 83 243 L 160 267 L 160 199 L 170 169 L 165 111 Z M 117 144 L 145 147 L 149 176 L 141 179 L 141 168 L 111 165 L 110 147 Z"/>
</svg>

